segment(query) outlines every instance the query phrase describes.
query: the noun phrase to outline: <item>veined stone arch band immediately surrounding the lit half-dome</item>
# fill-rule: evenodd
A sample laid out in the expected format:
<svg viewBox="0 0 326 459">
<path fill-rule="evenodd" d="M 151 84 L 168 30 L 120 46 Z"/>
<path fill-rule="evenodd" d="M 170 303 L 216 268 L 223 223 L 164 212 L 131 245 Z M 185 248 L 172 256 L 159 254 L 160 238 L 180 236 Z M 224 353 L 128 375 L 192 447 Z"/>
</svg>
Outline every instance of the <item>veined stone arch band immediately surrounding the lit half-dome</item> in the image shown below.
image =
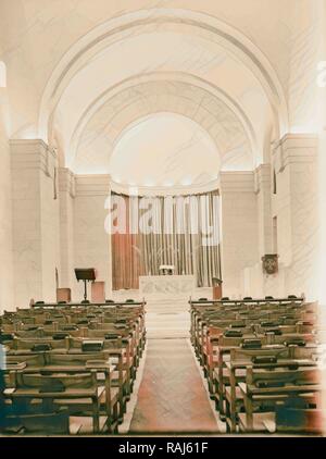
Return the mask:
<svg viewBox="0 0 326 459">
<path fill-rule="evenodd" d="M 195 85 L 193 79 L 190 84 L 189 79 L 181 80 L 180 76 L 179 80 L 166 79 L 166 75 L 165 78 L 164 75 L 160 75 L 161 78 L 159 75 L 152 77 L 155 79 L 142 77 L 137 84 L 135 80 L 128 82 L 129 85 L 134 84 L 130 86 L 123 84 L 103 95 L 101 102 L 96 102 L 98 110 L 89 108 L 74 133 L 67 166 L 78 170 L 76 160 L 78 162 L 79 159 L 84 161 L 85 170 L 91 170 L 96 157 L 99 166 L 104 158 L 103 151 L 109 160 L 116 139 L 128 125 L 141 116 L 171 112 L 189 117 L 206 131 L 222 156 L 224 170 L 254 168 L 252 127 L 227 97 L 223 97 L 221 91 L 213 94 L 212 88 L 209 91 Z M 86 162 L 88 158 L 89 164 Z M 105 170 L 105 164 L 102 164 L 102 169 Z"/>
</svg>

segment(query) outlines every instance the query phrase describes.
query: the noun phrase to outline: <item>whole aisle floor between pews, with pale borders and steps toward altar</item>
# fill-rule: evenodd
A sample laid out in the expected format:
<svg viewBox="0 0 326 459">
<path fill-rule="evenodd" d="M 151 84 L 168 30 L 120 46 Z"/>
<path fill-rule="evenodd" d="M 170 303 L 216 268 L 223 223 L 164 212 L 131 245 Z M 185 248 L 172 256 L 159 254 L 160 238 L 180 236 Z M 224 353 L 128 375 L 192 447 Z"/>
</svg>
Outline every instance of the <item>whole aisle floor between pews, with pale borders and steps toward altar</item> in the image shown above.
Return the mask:
<svg viewBox="0 0 326 459">
<path fill-rule="evenodd" d="M 188 298 L 150 300 L 146 310 L 147 349 L 120 433 L 221 433 L 223 425 L 189 340 Z"/>
</svg>

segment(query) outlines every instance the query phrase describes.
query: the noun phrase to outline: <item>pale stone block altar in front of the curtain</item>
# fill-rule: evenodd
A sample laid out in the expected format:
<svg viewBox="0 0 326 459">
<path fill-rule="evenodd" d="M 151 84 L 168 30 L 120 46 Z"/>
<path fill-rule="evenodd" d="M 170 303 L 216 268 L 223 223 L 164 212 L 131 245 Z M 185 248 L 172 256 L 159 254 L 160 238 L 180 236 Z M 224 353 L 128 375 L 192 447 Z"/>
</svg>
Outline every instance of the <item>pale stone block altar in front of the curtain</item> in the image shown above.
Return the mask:
<svg viewBox="0 0 326 459">
<path fill-rule="evenodd" d="M 154 275 L 139 276 L 139 293 L 146 299 L 189 299 L 193 295 L 196 282 L 193 275 Z"/>
</svg>

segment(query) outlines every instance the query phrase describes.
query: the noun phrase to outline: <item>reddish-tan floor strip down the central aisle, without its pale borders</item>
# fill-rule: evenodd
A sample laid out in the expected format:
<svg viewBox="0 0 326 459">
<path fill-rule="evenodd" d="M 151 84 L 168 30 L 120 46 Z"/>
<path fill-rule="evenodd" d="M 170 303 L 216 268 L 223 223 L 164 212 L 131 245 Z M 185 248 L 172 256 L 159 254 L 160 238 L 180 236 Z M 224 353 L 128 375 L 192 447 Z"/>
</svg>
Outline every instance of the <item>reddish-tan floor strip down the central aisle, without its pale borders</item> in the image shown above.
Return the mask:
<svg viewBox="0 0 326 459">
<path fill-rule="evenodd" d="M 149 339 L 129 433 L 217 433 L 208 393 L 186 338 Z"/>
</svg>

